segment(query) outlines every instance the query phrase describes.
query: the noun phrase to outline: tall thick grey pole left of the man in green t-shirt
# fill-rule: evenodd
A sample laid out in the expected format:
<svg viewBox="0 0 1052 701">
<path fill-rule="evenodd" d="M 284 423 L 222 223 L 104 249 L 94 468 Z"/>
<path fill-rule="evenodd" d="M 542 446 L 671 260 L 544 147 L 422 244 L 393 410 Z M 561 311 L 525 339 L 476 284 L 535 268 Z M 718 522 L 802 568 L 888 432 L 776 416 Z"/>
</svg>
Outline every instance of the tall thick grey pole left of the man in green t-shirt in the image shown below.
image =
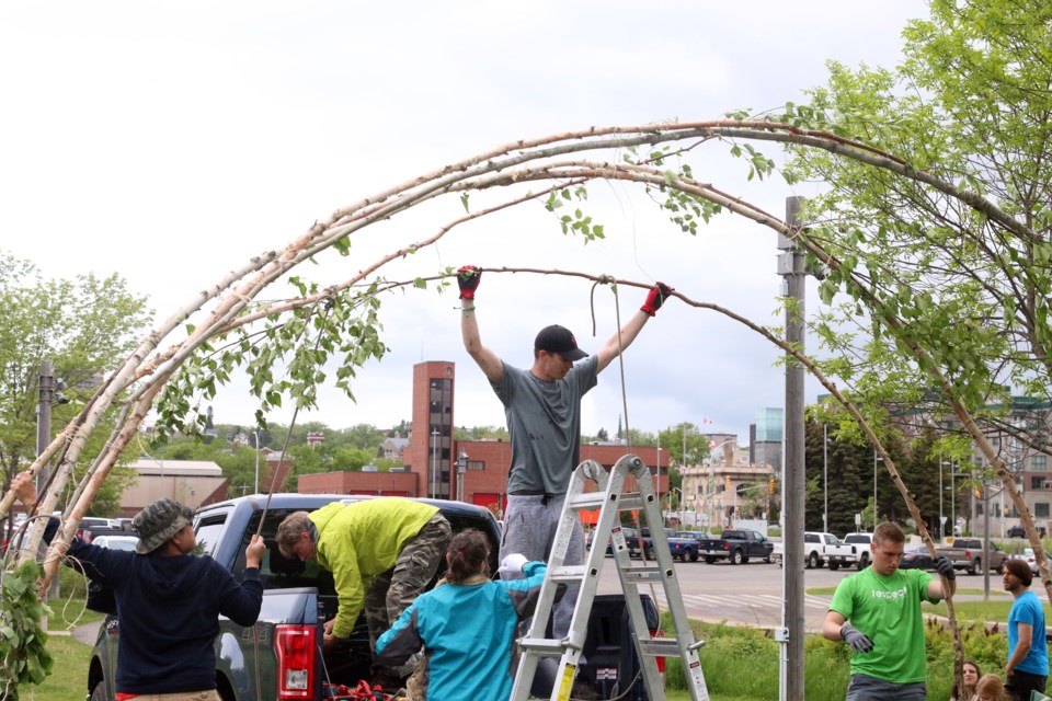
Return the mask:
<svg viewBox="0 0 1052 701">
<path fill-rule="evenodd" d="M 800 220 L 801 197 L 786 198 L 786 223 L 794 230 Z M 779 234 L 778 274 L 785 279 L 782 295 L 786 304 L 786 343 L 804 347 L 804 254 L 789 238 Z M 803 367 L 792 358 L 786 360 L 785 410 L 785 474 L 781 480 L 781 508 L 785 530 L 782 562 L 784 611 L 782 627 L 775 639 L 781 644 L 779 698 L 782 701 L 803 701 L 803 510 L 804 510 L 804 443 L 803 443 Z"/>
</svg>

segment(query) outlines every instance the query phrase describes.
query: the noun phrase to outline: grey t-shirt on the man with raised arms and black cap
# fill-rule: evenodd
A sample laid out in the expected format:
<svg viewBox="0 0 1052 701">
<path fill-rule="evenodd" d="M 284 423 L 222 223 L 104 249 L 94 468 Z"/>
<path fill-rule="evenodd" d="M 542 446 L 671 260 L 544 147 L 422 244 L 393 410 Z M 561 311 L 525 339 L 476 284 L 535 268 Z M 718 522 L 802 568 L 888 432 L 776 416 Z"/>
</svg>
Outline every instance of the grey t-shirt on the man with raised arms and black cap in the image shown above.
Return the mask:
<svg viewBox="0 0 1052 701">
<path fill-rule="evenodd" d="M 504 363 L 504 377 L 493 382 L 512 437 L 507 492 L 565 494 L 581 461 L 581 398 L 596 384 L 598 358 L 574 364 L 556 382 Z"/>
</svg>

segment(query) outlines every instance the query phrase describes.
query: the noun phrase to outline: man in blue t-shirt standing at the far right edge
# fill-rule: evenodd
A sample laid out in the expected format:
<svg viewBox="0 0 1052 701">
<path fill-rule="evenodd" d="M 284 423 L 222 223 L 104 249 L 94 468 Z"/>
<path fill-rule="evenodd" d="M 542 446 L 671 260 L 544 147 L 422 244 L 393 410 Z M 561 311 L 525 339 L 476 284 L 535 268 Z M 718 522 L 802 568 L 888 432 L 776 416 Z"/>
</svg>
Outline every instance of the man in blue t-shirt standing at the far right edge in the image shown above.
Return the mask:
<svg viewBox="0 0 1052 701">
<path fill-rule="evenodd" d="M 1008 664 L 1005 688 L 1029 701 L 1031 691 L 1044 693 L 1049 679 L 1049 645 L 1044 636 L 1044 609 L 1030 591 L 1033 575 L 1026 560 L 1005 560 L 1005 590 L 1015 597 L 1008 612 Z"/>
</svg>

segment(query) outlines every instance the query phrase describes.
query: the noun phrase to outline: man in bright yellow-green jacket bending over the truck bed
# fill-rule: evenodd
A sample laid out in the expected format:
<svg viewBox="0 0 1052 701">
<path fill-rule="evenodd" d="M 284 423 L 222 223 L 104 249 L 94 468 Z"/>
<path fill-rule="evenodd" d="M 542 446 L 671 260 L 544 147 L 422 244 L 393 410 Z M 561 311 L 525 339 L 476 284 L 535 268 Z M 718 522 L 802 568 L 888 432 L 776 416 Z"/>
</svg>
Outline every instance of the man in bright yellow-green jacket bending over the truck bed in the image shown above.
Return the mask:
<svg viewBox="0 0 1052 701">
<path fill-rule="evenodd" d="M 437 507 L 402 498 L 336 502 L 289 514 L 277 528 L 283 555 L 317 560 L 332 573 L 340 607 L 325 621 L 322 646 L 348 636 L 364 608 L 374 653 L 377 639 L 435 576 L 451 538 Z M 393 681 L 399 674 L 374 665 L 373 676 Z"/>
</svg>

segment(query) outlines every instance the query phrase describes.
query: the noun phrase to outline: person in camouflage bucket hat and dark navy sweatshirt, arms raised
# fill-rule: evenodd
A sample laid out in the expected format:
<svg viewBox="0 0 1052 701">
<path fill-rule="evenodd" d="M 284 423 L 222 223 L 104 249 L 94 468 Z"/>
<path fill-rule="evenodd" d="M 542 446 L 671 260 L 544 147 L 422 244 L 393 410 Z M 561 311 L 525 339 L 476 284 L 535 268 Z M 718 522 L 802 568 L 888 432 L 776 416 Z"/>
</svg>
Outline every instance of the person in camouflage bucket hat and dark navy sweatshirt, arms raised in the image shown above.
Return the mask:
<svg viewBox="0 0 1052 701">
<path fill-rule="evenodd" d="M 19 474 L 11 489 L 32 514 L 33 475 Z M 66 564 L 80 562 L 92 581 L 114 589 L 121 617 L 116 701 L 135 697 L 220 701 L 215 652 L 219 616 L 244 627 L 260 616 L 263 539 L 253 536 L 245 548 L 238 582 L 211 558 L 193 555 L 197 545 L 193 517 L 193 510 L 179 502 L 159 499 L 133 521 L 139 533 L 135 552 L 98 548 L 79 538 L 70 543 Z M 45 540 L 50 542 L 57 529 L 58 519 L 52 518 Z"/>
</svg>

